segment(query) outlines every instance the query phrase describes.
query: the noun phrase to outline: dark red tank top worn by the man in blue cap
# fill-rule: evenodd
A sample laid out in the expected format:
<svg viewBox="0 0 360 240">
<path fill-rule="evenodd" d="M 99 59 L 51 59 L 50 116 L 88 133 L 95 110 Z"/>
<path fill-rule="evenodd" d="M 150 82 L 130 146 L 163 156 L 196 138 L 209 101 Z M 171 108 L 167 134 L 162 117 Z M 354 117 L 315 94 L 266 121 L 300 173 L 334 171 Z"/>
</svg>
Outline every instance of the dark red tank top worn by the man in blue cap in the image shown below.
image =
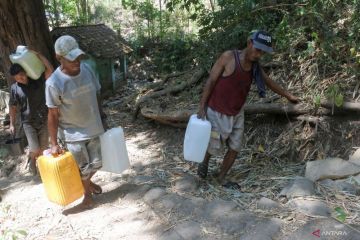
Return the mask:
<svg viewBox="0 0 360 240">
<path fill-rule="evenodd" d="M 209 107 L 229 116 L 240 112 L 252 83 L 252 71 L 242 69 L 238 51 L 234 51 L 234 56 L 234 72 L 229 76 L 219 77 L 208 102 Z"/>
</svg>

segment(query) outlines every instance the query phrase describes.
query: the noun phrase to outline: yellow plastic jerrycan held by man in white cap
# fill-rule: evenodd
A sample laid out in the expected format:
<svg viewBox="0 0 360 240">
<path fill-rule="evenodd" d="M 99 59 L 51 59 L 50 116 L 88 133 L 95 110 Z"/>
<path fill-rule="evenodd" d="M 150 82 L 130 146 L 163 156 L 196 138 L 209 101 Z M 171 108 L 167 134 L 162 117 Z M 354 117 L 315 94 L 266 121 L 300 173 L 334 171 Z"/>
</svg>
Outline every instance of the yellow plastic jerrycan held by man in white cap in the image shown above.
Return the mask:
<svg viewBox="0 0 360 240">
<path fill-rule="evenodd" d="M 49 201 L 65 206 L 83 196 L 79 168 L 70 152 L 42 155 L 37 164 Z"/>
</svg>

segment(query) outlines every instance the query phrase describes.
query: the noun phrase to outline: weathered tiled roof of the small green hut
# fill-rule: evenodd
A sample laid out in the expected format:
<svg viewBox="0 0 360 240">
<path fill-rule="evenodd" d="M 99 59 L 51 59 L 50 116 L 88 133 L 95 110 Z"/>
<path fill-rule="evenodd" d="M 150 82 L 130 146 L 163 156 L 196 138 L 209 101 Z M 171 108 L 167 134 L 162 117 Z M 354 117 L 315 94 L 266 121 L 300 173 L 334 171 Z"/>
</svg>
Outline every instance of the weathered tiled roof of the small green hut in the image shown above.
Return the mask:
<svg viewBox="0 0 360 240">
<path fill-rule="evenodd" d="M 62 35 L 73 36 L 82 50 L 97 58 L 116 58 L 132 51 L 122 37 L 104 24 L 57 27 L 51 31 L 54 42 Z"/>
</svg>

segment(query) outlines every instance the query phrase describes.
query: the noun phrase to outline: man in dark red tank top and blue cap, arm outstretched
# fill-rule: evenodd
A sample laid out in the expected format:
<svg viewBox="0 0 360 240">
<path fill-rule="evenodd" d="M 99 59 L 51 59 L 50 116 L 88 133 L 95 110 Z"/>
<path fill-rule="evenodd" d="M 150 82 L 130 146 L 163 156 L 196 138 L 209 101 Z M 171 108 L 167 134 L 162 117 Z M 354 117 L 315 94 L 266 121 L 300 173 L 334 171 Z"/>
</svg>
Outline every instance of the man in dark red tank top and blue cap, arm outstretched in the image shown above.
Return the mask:
<svg viewBox="0 0 360 240">
<path fill-rule="evenodd" d="M 251 82 L 255 78 L 252 70 L 265 53 L 271 52 L 273 52 L 271 36 L 267 32 L 256 31 L 248 39 L 245 49 L 225 51 L 211 69 L 198 112 L 199 118 L 206 116 L 212 125 L 208 150 L 204 161 L 198 167 L 200 177 L 207 176 L 211 155 L 220 153 L 222 147 L 227 145 L 228 151 L 223 159 L 217 180 L 225 187 L 239 187 L 236 183 L 226 182 L 225 176 L 241 149 L 244 132 L 243 105 Z M 299 101 L 297 97 L 271 80 L 261 67 L 258 68 L 258 71 L 262 81 L 272 91 L 286 97 L 292 103 Z"/>
</svg>

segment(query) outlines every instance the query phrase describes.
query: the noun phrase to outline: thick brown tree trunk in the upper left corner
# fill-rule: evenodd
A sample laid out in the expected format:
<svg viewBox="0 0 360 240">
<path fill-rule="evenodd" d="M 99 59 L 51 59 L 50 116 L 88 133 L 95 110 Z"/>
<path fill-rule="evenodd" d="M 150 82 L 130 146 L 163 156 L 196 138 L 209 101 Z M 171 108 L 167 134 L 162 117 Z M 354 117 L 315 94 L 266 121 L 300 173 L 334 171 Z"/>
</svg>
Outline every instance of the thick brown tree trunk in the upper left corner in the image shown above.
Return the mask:
<svg viewBox="0 0 360 240">
<path fill-rule="evenodd" d="M 18 45 L 34 49 L 54 62 L 53 43 L 41 0 L 0 1 L 0 69 L 8 85 L 11 65 L 9 55 Z"/>
</svg>

